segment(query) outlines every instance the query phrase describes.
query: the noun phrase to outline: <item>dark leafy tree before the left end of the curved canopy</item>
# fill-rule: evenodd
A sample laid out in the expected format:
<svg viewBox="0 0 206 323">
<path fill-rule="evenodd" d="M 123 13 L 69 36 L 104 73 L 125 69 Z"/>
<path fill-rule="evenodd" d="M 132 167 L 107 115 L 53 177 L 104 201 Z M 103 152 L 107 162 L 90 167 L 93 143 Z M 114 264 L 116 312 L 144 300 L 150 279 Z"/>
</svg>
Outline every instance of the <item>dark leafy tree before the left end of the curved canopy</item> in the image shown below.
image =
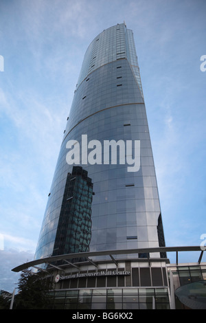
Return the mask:
<svg viewBox="0 0 206 323">
<path fill-rule="evenodd" d="M 49 309 L 52 289 L 47 274 L 40 271 L 37 274 L 30 270 L 21 272 L 18 283 L 19 293 L 15 296 L 14 309 Z"/>
</svg>

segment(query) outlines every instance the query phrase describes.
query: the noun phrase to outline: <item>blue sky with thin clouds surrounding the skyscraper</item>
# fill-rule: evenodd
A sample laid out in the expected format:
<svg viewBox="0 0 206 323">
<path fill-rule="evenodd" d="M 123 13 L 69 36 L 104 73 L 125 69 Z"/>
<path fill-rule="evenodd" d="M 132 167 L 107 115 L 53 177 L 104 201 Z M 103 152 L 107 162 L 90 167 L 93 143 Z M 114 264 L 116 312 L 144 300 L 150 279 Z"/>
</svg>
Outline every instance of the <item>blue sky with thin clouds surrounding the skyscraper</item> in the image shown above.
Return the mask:
<svg viewBox="0 0 206 323">
<path fill-rule="evenodd" d="M 205 12 L 205 0 L 0 1 L 0 289 L 12 291 L 11 269 L 33 260 L 84 52 L 124 21 L 135 36 L 166 245 L 200 245 Z"/>
</svg>

